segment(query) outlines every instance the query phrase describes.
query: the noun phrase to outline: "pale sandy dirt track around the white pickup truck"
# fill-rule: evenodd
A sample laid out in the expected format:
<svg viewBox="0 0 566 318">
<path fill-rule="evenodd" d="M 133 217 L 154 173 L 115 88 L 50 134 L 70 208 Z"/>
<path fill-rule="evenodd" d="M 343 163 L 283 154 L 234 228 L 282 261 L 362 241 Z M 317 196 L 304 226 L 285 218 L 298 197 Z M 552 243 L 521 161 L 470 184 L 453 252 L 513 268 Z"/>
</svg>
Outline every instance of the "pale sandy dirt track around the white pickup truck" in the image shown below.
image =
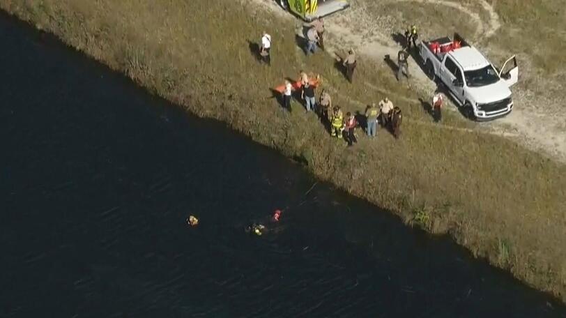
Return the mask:
<svg viewBox="0 0 566 318">
<path fill-rule="evenodd" d="M 285 13 L 277 3 L 272 0 L 253 0 L 261 5 L 261 8 L 283 19 L 300 24 L 292 15 Z M 389 54 L 395 60 L 399 51 L 399 44 L 395 42 L 392 34 L 404 30 L 406 17 L 383 14 L 385 6 L 397 6 L 403 10 L 416 10 L 418 8 L 431 8 L 436 12 L 452 13 L 459 18 L 462 25 L 466 25 L 473 36 L 468 36 L 471 42 L 492 57 L 505 56 L 509 50 L 496 45 L 482 45 L 488 42 L 500 29 L 502 23 L 494 8 L 484 0 L 477 0 L 474 5 L 466 5 L 454 1 L 443 0 L 386 0 L 378 1 L 380 4 L 369 0 L 351 0 L 351 8 L 342 13 L 326 17 L 326 47 L 332 54 L 345 47 L 353 47 L 358 54 L 365 59 L 373 59 L 376 63 L 385 63 L 383 58 Z M 459 23 L 459 22 L 458 22 Z M 452 30 L 446 31 L 445 26 L 427 28 L 431 34 L 420 31 L 422 38 L 443 35 L 434 34 L 442 32 L 450 34 Z M 300 27 L 298 27 L 298 33 Z M 454 30 L 457 31 L 457 30 Z M 468 32 L 469 33 L 469 32 Z M 511 52 L 513 53 L 513 52 Z M 532 149 L 542 151 L 547 156 L 566 162 L 566 116 L 561 111 L 559 103 L 560 96 L 542 96 L 536 94 L 528 87 L 528 83 L 538 82 L 540 85 L 556 85 L 556 83 L 544 82 L 550 79 L 540 77 L 540 72 L 533 70 L 528 63 L 529 56 L 519 56 L 520 82 L 512 88 L 514 99 L 514 110 L 508 116 L 490 121 L 488 123 L 477 123 L 478 130 L 503 135 L 513 139 L 519 144 Z M 521 61 L 525 62 L 521 64 Z M 524 66 L 524 67 L 522 67 Z M 410 63 L 411 89 L 418 91 L 422 96 L 431 96 L 436 85 L 431 82 L 422 72 L 417 63 Z M 392 73 L 393 76 L 393 73 Z M 366 83 L 372 86 L 372 83 Z M 418 107 L 415 100 L 415 107 Z M 450 107 L 457 111 L 454 105 Z"/>
</svg>

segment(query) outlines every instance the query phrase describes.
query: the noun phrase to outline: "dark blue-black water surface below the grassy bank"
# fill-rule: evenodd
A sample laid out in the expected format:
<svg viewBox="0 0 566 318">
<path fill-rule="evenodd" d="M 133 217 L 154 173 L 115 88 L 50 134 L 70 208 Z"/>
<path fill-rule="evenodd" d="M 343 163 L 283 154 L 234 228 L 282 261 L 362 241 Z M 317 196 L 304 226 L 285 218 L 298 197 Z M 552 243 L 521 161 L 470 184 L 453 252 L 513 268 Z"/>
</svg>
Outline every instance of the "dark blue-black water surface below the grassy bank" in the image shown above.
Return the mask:
<svg viewBox="0 0 566 318">
<path fill-rule="evenodd" d="M 0 43 L 0 317 L 566 317 L 3 15 Z"/>
</svg>

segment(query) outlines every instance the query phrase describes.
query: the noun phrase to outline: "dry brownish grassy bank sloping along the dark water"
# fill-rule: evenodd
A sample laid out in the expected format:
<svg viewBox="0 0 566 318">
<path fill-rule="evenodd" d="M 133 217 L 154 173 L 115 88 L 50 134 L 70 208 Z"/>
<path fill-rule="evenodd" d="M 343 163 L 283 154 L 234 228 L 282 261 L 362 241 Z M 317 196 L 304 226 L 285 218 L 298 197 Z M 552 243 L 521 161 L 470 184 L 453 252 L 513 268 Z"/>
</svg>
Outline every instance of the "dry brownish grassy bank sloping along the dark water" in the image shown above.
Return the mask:
<svg viewBox="0 0 566 318">
<path fill-rule="evenodd" d="M 478 257 L 566 300 L 566 167 L 494 135 L 448 129 L 470 125 L 457 115 L 432 124 L 411 101 L 428 97 L 397 84 L 387 66 L 361 59 L 355 83 L 347 84 L 331 56 L 306 58 L 294 26 L 251 3 L 0 0 L 0 6 L 188 111 L 225 121 L 304 162 L 320 179 L 408 223 L 449 233 Z M 263 30 L 273 36 L 271 68 L 250 52 L 248 41 L 257 42 Z M 401 139 L 381 130 L 378 139 L 361 137 L 346 149 L 297 103 L 291 113 L 282 110 L 269 88 L 300 69 L 321 73 L 345 110 L 362 110 L 387 92 L 406 115 Z"/>
</svg>

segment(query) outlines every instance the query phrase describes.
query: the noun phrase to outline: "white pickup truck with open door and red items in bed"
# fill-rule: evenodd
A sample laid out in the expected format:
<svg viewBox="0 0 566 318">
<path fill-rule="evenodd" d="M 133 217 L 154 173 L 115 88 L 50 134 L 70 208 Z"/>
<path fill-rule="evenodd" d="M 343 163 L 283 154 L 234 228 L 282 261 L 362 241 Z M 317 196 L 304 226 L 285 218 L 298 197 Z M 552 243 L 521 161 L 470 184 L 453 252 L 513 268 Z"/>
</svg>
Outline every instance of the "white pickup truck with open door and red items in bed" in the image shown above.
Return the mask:
<svg viewBox="0 0 566 318">
<path fill-rule="evenodd" d="M 430 79 L 440 80 L 471 119 L 487 120 L 513 109 L 510 86 L 519 80 L 512 56 L 498 70 L 457 33 L 419 43 L 420 58 Z"/>
</svg>

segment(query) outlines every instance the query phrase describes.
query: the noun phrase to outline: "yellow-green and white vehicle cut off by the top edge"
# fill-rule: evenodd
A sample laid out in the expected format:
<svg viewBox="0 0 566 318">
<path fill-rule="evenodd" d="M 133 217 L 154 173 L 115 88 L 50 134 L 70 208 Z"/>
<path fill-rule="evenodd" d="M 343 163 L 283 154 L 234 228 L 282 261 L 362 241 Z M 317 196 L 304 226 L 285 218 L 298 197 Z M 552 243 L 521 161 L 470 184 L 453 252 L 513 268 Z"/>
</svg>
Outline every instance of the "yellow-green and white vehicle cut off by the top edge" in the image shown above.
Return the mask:
<svg viewBox="0 0 566 318">
<path fill-rule="evenodd" d="M 332 13 L 349 8 L 347 0 L 278 0 L 280 5 L 298 15 L 301 19 L 311 22 L 317 17 L 325 17 Z"/>
</svg>

